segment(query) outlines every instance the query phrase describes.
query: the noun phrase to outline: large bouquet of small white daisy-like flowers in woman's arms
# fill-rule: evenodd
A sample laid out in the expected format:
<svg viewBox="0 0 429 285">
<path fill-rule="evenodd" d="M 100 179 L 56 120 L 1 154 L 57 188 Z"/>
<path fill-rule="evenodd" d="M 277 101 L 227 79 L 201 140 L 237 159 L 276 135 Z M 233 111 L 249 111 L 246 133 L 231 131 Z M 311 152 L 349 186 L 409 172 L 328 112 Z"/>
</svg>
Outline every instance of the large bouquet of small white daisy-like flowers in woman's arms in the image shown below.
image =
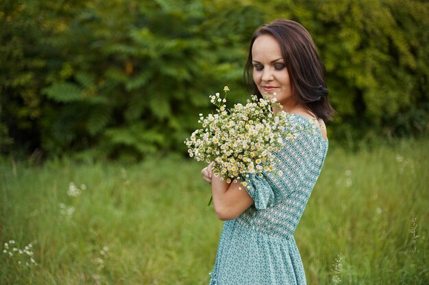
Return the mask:
<svg viewBox="0 0 429 285">
<path fill-rule="evenodd" d="M 275 156 L 286 144 L 286 140 L 295 139 L 305 128 L 291 122 L 291 114 L 284 111 L 273 113 L 276 103 L 275 93 L 270 100 L 252 95 L 246 105 L 236 104 L 232 109 L 225 105 L 229 88 L 223 88 L 225 96 L 219 93 L 210 95 L 210 101 L 216 105 L 216 113 L 204 117 L 199 114 L 202 128 L 194 131 L 184 143 L 188 146 L 190 157 L 197 161 L 206 161 L 213 165 L 213 174 L 221 176 L 230 183 L 237 182 L 246 174 L 262 177 L 262 171 L 281 171 L 275 169 Z M 246 186 L 246 182 L 243 182 Z"/>
</svg>

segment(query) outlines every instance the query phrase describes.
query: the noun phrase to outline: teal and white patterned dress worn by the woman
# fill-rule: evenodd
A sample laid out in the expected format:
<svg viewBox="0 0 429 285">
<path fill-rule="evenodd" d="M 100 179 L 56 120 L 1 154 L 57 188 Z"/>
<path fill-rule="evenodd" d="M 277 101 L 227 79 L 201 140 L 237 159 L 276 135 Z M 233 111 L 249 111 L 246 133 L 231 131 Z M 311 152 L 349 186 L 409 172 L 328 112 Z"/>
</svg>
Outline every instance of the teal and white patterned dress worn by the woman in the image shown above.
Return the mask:
<svg viewBox="0 0 429 285">
<path fill-rule="evenodd" d="M 296 124 L 310 126 L 302 116 Z M 306 284 L 293 232 L 319 177 L 328 150 L 317 129 L 302 132 L 276 152 L 283 174 L 249 175 L 244 180 L 254 205 L 225 221 L 210 285 Z"/>
</svg>

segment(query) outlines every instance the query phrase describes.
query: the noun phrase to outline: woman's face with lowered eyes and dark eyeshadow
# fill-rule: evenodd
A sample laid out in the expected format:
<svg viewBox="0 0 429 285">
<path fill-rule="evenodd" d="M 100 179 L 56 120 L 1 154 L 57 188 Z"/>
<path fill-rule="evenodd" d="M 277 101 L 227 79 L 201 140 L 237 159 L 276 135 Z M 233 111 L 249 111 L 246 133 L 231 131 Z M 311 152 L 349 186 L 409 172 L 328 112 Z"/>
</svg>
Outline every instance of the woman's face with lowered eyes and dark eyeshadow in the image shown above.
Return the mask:
<svg viewBox="0 0 429 285">
<path fill-rule="evenodd" d="M 273 98 L 276 93 L 278 103 L 284 111 L 295 106 L 292 96 L 289 72 L 284 64 L 282 51 L 277 40 L 269 35 L 258 36 L 252 46 L 253 77 L 262 96 L 266 93 Z"/>
</svg>

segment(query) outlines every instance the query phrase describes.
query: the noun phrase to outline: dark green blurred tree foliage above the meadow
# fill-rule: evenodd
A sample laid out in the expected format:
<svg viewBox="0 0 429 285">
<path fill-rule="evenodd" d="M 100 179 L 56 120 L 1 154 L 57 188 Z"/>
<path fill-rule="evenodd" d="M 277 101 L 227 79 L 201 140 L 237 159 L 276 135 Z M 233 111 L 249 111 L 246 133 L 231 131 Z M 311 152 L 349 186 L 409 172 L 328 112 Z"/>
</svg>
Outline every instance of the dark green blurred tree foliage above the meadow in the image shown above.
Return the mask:
<svg viewBox="0 0 429 285">
<path fill-rule="evenodd" d="M 256 27 L 291 18 L 312 34 L 338 114 L 331 137 L 428 131 L 424 1 L 5 0 L 0 148 L 139 159 L 183 150 L 208 95 L 245 98 Z"/>
</svg>

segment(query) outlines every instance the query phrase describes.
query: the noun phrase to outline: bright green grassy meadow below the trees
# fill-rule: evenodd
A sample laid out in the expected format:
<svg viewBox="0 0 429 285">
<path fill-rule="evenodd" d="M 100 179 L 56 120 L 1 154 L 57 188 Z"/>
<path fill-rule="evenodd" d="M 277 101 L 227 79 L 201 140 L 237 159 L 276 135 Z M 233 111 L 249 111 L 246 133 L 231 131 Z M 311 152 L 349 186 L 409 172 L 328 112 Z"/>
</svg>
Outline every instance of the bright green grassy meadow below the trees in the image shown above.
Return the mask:
<svg viewBox="0 0 429 285">
<path fill-rule="evenodd" d="M 295 232 L 308 284 L 429 284 L 428 145 L 331 146 Z M 207 284 L 223 222 L 201 167 L 1 160 L 0 284 Z"/>
</svg>

